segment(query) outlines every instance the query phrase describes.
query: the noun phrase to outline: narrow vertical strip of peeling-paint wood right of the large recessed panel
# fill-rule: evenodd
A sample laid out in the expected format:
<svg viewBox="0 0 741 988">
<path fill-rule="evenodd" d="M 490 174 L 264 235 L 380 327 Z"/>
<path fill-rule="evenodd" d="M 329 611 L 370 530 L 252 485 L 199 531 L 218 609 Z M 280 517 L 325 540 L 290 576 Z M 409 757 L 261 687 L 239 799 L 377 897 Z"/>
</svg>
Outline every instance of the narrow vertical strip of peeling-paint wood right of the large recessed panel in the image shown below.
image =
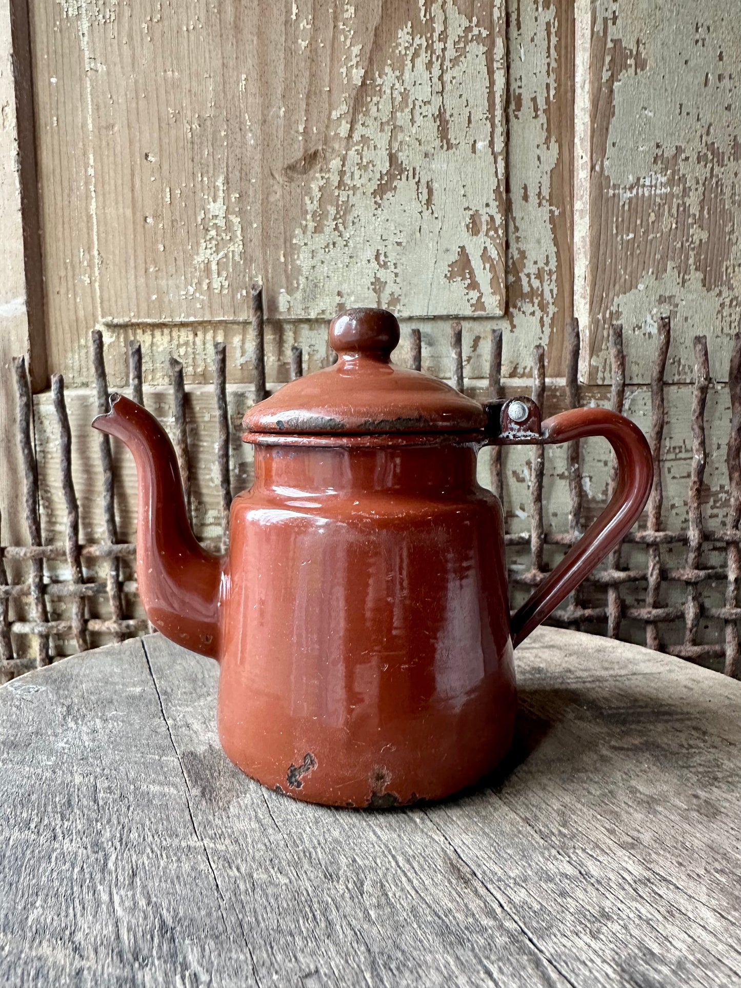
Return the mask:
<svg viewBox="0 0 741 988">
<path fill-rule="evenodd" d="M 565 372 L 573 231 L 573 4 L 508 3 L 507 295 L 504 376 L 527 375 L 535 344 Z"/>
</svg>

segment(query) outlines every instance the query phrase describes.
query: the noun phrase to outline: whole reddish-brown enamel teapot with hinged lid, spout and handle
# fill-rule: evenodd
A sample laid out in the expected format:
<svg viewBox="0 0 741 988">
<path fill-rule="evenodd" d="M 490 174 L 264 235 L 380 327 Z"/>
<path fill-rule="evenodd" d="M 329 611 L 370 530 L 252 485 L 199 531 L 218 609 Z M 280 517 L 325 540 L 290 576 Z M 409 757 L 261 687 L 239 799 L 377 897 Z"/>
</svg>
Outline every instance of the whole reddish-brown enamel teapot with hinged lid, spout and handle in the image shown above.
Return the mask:
<svg viewBox="0 0 741 988">
<path fill-rule="evenodd" d="M 389 806 L 448 795 L 512 742 L 513 648 L 638 518 L 643 434 L 603 408 L 542 424 L 528 398 L 477 401 L 395 367 L 396 319 L 353 309 L 337 364 L 251 408 L 255 480 L 231 506 L 228 556 L 191 532 L 177 459 L 142 407 L 111 395 L 93 425 L 138 471 L 147 617 L 221 666 L 218 731 L 254 779 L 298 799 Z M 510 617 L 504 521 L 476 482 L 485 446 L 604 436 L 618 482 L 599 519 Z"/>
</svg>

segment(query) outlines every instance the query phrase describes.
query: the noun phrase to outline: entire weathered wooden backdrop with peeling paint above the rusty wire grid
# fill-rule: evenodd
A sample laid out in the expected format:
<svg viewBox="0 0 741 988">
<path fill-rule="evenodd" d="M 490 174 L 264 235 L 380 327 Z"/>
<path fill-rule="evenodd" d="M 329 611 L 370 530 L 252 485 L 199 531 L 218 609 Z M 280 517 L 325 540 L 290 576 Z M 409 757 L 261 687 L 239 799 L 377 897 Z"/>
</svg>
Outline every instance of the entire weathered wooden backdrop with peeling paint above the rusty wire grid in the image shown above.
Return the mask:
<svg viewBox="0 0 741 988">
<path fill-rule="evenodd" d="M 725 379 L 741 271 L 734 0 L 708 0 L 697 23 L 647 0 L 37 0 L 30 13 L 48 360 L 68 386 L 91 379 L 96 325 L 143 339 L 147 382 L 167 378 L 173 345 L 202 380 L 214 338 L 230 380 L 249 382 L 256 274 L 273 333 L 321 332 L 305 320 L 340 300 L 502 312 L 479 321 L 509 324 L 504 376 L 529 371 L 536 342 L 559 375 L 573 302 L 588 379 L 609 376 L 620 319 L 626 380 L 646 383 L 667 312 L 668 376 L 691 376 L 704 331 Z M 486 214 L 471 205 L 484 188 Z M 351 256 L 359 230 L 371 236 Z M 444 352 L 447 325 L 427 326 Z"/>
</svg>

